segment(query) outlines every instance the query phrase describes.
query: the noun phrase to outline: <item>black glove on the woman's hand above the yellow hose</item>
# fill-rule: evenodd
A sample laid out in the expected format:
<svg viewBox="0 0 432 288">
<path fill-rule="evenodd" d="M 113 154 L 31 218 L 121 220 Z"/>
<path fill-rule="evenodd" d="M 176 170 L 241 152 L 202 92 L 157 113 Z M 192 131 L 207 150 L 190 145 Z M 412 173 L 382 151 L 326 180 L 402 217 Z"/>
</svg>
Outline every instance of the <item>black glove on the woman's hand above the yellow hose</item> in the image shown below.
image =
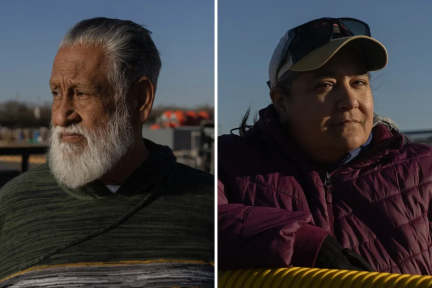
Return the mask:
<svg viewBox="0 0 432 288">
<path fill-rule="evenodd" d="M 348 248 L 343 248 L 332 236 L 322 242 L 316 256 L 314 268 L 374 271 L 372 266 L 360 255 Z"/>
</svg>

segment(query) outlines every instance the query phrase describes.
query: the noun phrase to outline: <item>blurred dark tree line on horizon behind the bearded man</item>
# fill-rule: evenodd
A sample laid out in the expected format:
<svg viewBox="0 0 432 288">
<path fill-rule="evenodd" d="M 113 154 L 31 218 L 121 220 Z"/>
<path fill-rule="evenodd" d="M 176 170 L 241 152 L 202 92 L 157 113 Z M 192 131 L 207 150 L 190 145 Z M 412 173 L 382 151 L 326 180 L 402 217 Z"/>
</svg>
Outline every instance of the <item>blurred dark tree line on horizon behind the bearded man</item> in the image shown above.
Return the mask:
<svg viewBox="0 0 432 288">
<path fill-rule="evenodd" d="M 35 108 L 38 106 L 39 118 L 36 118 Z M 214 118 L 214 107 L 210 105 L 196 106 L 185 108 L 179 106 L 156 106 L 153 107 L 147 123 L 154 123 L 165 110 L 193 110 L 207 111 Z M 36 113 L 37 114 L 37 113 Z M 24 102 L 10 100 L 0 103 L 0 126 L 9 128 L 31 128 L 31 127 L 49 127 L 51 122 L 51 105 L 45 103 L 42 105 L 27 104 Z"/>
</svg>

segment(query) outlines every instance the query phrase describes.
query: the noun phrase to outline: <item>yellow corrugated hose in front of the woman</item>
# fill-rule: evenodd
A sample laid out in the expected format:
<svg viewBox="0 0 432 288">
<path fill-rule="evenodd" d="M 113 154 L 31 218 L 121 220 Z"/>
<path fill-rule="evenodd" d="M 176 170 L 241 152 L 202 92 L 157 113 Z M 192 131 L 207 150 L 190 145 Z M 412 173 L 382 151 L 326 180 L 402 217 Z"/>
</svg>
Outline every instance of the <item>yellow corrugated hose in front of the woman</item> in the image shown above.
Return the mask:
<svg viewBox="0 0 432 288">
<path fill-rule="evenodd" d="M 432 276 L 318 268 L 218 271 L 219 288 L 425 288 Z"/>
</svg>

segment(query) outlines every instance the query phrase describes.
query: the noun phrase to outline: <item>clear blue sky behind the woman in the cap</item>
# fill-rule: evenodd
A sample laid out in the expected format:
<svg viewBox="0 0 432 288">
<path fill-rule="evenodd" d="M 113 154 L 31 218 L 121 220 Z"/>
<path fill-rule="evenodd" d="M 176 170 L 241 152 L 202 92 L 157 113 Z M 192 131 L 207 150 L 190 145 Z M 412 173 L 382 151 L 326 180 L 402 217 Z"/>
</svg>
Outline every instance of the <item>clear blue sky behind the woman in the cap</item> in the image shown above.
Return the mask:
<svg viewBox="0 0 432 288">
<path fill-rule="evenodd" d="M 218 134 L 237 127 L 248 105 L 270 103 L 268 62 L 280 37 L 319 17 L 367 22 L 386 46 L 386 68 L 372 73 L 375 112 L 403 130 L 432 129 L 432 1 L 218 0 Z"/>
</svg>

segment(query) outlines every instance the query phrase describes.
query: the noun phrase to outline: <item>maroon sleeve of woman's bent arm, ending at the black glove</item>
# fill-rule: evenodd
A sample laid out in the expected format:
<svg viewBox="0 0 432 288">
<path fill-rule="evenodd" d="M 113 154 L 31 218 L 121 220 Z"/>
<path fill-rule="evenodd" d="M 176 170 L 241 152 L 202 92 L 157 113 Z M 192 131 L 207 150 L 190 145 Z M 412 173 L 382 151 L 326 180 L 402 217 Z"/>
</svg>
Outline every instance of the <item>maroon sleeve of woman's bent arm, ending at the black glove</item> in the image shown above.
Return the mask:
<svg viewBox="0 0 432 288">
<path fill-rule="evenodd" d="M 304 211 L 229 203 L 218 180 L 218 268 L 313 267 L 325 230 Z M 229 197 L 228 197 L 229 198 Z"/>
</svg>

